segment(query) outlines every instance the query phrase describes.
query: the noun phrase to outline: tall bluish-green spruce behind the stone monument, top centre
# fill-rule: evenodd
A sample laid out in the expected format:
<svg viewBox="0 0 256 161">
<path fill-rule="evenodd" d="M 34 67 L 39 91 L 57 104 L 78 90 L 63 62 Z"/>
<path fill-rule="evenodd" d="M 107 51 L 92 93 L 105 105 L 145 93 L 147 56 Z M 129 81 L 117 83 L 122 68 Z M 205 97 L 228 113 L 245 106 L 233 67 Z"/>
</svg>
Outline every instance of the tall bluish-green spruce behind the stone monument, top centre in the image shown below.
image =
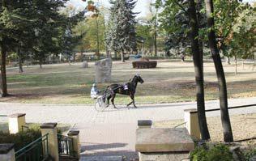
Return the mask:
<svg viewBox="0 0 256 161">
<path fill-rule="evenodd" d="M 122 62 L 126 52 L 137 52 L 134 0 L 111 1 L 108 44 L 115 52 L 121 52 Z"/>
</svg>

